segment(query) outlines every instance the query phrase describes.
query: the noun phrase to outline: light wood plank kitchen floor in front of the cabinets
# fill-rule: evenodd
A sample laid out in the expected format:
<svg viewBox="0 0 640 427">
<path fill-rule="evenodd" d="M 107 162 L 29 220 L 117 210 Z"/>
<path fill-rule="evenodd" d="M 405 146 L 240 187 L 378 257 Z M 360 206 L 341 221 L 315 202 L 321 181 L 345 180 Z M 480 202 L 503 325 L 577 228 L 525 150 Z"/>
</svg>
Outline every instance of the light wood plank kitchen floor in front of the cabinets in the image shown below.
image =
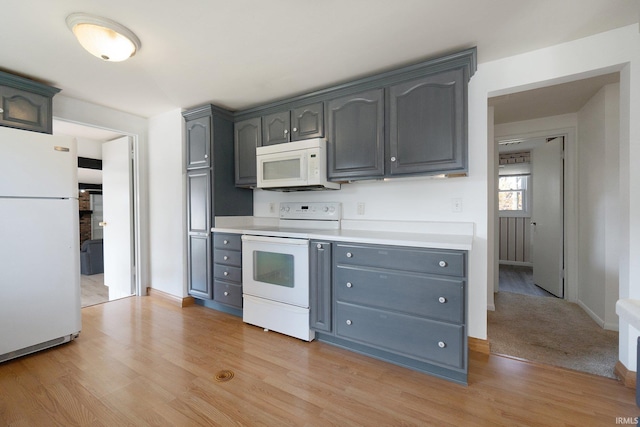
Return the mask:
<svg viewBox="0 0 640 427">
<path fill-rule="evenodd" d="M 201 306 L 82 313 L 76 341 L 0 364 L 0 425 L 614 426 L 640 412 L 615 380 L 499 356 L 471 353 L 462 386 Z"/>
</svg>

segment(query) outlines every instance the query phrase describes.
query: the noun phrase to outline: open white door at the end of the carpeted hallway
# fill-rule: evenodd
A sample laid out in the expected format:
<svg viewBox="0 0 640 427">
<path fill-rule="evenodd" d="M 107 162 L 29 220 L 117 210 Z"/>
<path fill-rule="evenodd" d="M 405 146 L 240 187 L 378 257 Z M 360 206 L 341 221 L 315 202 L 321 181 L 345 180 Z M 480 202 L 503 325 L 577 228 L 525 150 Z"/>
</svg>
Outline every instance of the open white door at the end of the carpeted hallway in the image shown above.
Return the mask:
<svg viewBox="0 0 640 427">
<path fill-rule="evenodd" d="M 564 138 L 533 149 L 531 216 L 533 282 L 564 297 L 563 159 Z"/>
</svg>

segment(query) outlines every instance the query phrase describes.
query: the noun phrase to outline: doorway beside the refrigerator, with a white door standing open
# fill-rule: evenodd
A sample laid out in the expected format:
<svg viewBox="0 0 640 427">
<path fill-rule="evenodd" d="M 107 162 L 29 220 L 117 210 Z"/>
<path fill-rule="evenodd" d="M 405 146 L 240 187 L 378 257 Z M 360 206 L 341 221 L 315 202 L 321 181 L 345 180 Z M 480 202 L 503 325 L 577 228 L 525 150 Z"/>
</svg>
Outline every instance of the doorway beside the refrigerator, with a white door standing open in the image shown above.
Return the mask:
<svg viewBox="0 0 640 427">
<path fill-rule="evenodd" d="M 87 259 L 100 258 L 93 264 L 89 261 L 99 268 L 85 268 L 81 275 L 82 306 L 135 295 L 138 288 L 136 277 L 139 277 L 135 262 L 137 214 L 133 180 L 136 173 L 134 144 L 137 139 L 117 131 L 62 120 L 54 120 L 54 133 L 77 139 L 79 159 L 83 160 L 79 162 L 78 169 L 81 191 L 91 192 L 91 206 L 102 202 L 103 218 L 98 218 L 98 211 L 93 218 L 94 210 L 91 208 L 82 215 L 89 224 L 97 222 L 99 226 L 91 232 L 91 240 L 83 243 L 93 253 L 81 252 L 81 265 L 83 256 Z M 87 162 L 93 163 L 93 170 L 86 168 Z M 80 193 L 80 199 L 83 196 L 86 194 Z M 89 196 L 86 198 L 89 200 Z"/>
</svg>

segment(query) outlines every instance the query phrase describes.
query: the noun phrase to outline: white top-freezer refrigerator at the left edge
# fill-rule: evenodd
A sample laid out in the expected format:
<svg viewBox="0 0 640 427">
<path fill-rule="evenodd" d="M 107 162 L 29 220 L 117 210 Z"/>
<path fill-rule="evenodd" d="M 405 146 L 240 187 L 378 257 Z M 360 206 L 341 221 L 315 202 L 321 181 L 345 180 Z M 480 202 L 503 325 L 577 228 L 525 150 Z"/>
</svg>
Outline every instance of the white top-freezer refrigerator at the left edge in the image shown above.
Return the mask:
<svg viewBox="0 0 640 427">
<path fill-rule="evenodd" d="M 0 127 L 0 362 L 81 330 L 73 138 Z"/>
</svg>

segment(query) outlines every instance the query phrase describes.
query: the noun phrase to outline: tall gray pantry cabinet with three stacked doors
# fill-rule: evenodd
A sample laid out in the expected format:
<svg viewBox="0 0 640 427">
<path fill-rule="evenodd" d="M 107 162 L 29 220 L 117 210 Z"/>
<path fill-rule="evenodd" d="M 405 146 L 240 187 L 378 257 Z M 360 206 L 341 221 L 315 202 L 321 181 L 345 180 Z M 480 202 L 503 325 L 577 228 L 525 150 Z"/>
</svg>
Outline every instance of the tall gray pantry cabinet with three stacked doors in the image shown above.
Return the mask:
<svg viewBox="0 0 640 427">
<path fill-rule="evenodd" d="M 213 298 L 211 227 L 216 216 L 253 215 L 253 191 L 235 186 L 233 116 L 214 105 L 185 119 L 187 280 L 189 295 Z"/>
</svg>

